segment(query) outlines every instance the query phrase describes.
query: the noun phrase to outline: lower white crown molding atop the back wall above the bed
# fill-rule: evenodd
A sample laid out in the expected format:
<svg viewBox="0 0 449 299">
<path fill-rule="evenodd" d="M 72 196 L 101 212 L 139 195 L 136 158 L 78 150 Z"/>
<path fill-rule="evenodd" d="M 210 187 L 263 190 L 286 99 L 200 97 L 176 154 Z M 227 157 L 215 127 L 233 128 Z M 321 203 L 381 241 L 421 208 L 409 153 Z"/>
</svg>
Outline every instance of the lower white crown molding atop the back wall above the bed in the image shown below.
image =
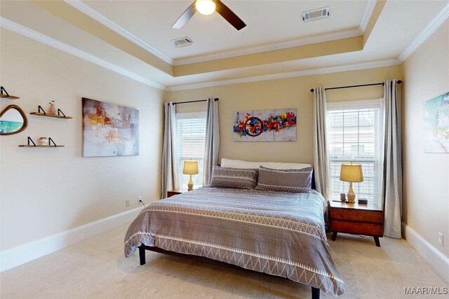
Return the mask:
<svg viewBox="0 0 449 299">
<path fill-rule="evenodd" d="M 192 90 L 197 88 L 209 88 L 214 86 L 221 85 L 232 85 L 232 84 L 241 84 L 241 83 L 250 83 L 257 81 L 269 81 L 269 80 L 277 80 L 283 78 L 294 78 L 294 77 L 302 77 L 302 76 L 313 76 L 319 74 L 329 74 L 329 73 L 338 73 L 341 71 L 357 71 L 360 69 L 374 69 L 376 67 L 391 67 L 394 65 L 401 64 L 402 62 L 398 59 L 393 60 L 380 60 L 377 62 L 364 62 L 359 64 L 350 64 L 340 67 L 323 67 L 320 69 L 306 69 L 302 71 L 290 71 L 287 73 L 279 73 L 279 74 L 269 74 L 262 76 L 251 76 L 246 78 L 236 78 L 236 79 L 228 79 L 221 81 L 210 81 L 204 83 L 194 83 L 188 85 L 174 85 L 166 88 L 166 91 L 180 91 L 180 90 Z"/>
</svg>

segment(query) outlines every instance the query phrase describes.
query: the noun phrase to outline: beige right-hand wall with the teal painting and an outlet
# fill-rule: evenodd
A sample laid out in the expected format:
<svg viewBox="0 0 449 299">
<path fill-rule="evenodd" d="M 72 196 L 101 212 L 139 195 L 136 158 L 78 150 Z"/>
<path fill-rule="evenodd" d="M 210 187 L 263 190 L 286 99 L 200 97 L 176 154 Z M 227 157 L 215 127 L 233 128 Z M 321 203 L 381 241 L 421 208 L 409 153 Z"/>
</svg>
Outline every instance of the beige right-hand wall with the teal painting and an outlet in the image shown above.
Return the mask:
<svg viewBox="0 0 449 299">
<path fill-rule="evenodd" d="M 404 62 L 404 222 L 449 257 L 449 153 L 424 153 L 423 104 L 449 91 L 449 21 Z M 443 232 L 445 245 L 438 244 Z"/>
</svg>

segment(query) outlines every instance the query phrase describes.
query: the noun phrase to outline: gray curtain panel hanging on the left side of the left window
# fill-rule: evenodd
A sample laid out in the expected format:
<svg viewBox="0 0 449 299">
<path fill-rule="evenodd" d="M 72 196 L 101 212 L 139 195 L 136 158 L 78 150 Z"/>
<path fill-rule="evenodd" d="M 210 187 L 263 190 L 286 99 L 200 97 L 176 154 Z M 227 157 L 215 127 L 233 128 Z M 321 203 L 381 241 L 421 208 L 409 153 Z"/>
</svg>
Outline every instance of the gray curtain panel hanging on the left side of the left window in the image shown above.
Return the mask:
<svg viewBox="0 0 449 299">
<path fill-rule="evenodd" d="M 173 102 L 165 103 L 165 123 L 162 148 L 162 197 L 167 191 L 180 188 L 177 169 L 176 112 Z"/>
</svg>

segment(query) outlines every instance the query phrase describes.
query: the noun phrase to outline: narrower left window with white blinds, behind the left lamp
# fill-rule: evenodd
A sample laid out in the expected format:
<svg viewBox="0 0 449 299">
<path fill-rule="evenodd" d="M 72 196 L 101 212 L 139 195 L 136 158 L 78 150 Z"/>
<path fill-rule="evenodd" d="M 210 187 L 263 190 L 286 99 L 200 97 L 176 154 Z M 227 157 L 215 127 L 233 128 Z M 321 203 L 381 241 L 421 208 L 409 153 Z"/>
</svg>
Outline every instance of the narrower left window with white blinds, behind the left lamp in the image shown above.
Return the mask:
<svg viewBox="0 0 449 299">
<path fill-rule="evenodd" d="M 187 189 L 188 174 L 182 174 L 185 160 L 198 161 L 199 174 L 193 174 L 194 186 L 203 186 L 204 139 L 206 112 L 176 113 L 177 160 L 180 188 Z"/>
</svg>

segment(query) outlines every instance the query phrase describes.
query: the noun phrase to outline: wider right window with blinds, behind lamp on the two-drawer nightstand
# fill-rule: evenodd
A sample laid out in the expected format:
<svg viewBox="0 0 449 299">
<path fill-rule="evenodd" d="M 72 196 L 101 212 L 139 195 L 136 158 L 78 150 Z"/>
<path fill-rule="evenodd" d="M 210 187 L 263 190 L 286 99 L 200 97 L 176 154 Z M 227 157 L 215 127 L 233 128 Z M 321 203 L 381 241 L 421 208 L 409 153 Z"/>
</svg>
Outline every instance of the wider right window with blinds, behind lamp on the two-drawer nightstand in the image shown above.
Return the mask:
<svg viewBox="0 0 449 299">
<path fill-rule="evenodd" d="M 357 198 L 380 201 L 383 99 L 328 103 L 330 186 L 333 198 L 347 193 L 349 182 L 340 181 L 343 162 L 360 163 L 363 182 L 353 183 Z"/>
</svg>

